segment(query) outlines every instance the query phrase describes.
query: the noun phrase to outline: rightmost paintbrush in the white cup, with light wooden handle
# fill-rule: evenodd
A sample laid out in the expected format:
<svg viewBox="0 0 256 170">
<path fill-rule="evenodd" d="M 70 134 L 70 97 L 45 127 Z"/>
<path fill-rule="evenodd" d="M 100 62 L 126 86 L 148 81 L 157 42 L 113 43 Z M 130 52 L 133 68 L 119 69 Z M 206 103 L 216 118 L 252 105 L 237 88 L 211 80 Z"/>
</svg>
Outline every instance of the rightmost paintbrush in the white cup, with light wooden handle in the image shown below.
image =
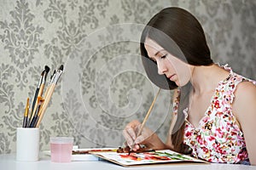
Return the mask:
<svg viewBox="0 0 256 170">
<path fill-rule="evenodd" d="M 63 72 L 63 65 L 60 66 L 60 68 L 55 71 L 54 75 L 52 76 L 50 82 L 49 82 L 49 86 L 46 90 L 46 94 L 44 96 L 44 104 L 41 106 L 40 111 L 38 113 L 38 122 L 36 127 L 39 127 L 40 122 L 42 121 L 42 118 L 44 116 L 44 112 L 47 109 L 47 106 L 49 104 L 49 100 L 51 99 L 52 94 L 54 93 L 55 90 L 55 86 L 59 80 L 59 78 L 61 77 L 61 74 Z"/>
</svg>

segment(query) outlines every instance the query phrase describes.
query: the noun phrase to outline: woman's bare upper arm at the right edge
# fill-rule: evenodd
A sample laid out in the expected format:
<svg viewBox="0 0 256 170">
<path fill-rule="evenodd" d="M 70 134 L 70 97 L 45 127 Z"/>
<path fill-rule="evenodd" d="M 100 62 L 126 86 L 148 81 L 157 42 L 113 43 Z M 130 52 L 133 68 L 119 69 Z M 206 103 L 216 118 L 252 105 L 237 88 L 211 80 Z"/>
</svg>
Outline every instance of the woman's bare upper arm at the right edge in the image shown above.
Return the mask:
<svg viewBox="0 0 256 170">
<path fill-rule="evenodd" d="M 256 165 L 256 86 L 252 82 L 241 82 L 235 92 L 233 112 L 241 125 L 252 165 Z"/>
</svg>

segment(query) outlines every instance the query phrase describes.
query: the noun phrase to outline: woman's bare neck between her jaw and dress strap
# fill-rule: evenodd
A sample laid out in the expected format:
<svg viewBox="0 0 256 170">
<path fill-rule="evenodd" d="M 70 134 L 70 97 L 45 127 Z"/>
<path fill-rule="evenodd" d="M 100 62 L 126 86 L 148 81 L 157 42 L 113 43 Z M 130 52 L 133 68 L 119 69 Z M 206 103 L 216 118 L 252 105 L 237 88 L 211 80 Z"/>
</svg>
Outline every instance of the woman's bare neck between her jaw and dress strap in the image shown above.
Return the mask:
<svg viewBox="0 0 256 170">
<path fill-rule="evenodd" d="M 225 71 L 218 65 L 194 66 L 190 82 L 193 86 L 194 94 L 204 94 L 214 90 L 218 82 L 229 77 L 230 72 Z"/>
</svg>

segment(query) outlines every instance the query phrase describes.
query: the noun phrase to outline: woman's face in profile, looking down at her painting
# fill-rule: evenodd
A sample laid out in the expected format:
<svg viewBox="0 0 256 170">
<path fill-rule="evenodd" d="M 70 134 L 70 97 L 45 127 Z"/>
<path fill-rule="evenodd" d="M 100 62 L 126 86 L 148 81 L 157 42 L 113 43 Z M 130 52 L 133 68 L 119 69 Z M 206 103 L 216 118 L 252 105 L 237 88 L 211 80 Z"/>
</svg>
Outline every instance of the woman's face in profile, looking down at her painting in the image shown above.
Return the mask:
<svg viewBox="0 0 256 170">
<path fill-rule="evenodd" d="M 168 79 L 175 82 L 179 87 L 189 82 L 191 71 L 193 70 L 192 65 L 177 59 L 148 37 L 144 44 L 148 57 L 157 63 L 158 73 L 160 75 L 165 74 Z"/>
</svg>

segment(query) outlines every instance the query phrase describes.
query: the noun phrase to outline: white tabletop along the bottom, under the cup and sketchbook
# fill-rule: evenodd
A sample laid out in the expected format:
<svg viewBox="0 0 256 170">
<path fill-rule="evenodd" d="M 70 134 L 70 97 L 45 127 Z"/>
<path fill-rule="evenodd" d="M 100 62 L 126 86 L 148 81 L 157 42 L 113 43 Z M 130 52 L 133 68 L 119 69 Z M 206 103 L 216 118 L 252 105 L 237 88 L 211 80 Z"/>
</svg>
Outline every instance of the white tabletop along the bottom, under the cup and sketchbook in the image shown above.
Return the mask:
<svg viewBox="0 0 256 170">
<path fill-rule="evenodd" d="M 72 161 L 54 163 L 50 157 L 40 155 L 39 161 L 22 162 L 15 160 L 15 154 L 0 155 L 0 170 L 85 170 L 85 169 L 175 169 L 175 170 L 256 170 L 256 166 L 229 164 L 159 164 L 143 167 L 121 167 L 108 161 Z"/>
</svg>

